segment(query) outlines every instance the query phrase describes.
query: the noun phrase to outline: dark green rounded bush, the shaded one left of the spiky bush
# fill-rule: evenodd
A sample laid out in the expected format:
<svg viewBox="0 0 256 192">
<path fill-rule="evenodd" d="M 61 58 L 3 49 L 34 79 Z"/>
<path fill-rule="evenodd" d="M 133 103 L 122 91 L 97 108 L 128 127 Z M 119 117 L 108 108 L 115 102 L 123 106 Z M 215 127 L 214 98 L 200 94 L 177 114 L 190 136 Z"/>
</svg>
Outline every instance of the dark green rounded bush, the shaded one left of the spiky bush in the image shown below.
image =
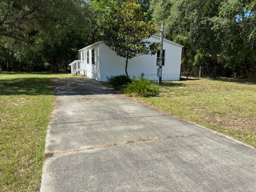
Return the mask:
<svg viewBox="0 0 256 192">
<path fill-rule="evenodd" d="M 107 80 L 115 88 L 115 90 L 122 90 L 127 86 L 128 82 L 132 82 L 131 79 L 126 75 L 110 76 L 107 77 Z"/>
</svg>

